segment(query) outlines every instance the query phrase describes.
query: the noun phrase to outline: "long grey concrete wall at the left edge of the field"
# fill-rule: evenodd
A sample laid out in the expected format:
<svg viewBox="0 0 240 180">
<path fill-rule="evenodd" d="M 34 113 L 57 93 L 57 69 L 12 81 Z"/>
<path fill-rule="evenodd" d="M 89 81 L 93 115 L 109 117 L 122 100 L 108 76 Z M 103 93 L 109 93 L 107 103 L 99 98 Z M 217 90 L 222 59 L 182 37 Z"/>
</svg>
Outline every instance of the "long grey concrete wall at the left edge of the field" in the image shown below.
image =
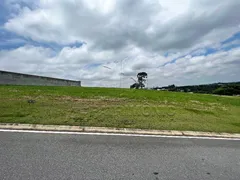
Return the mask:
<svg viewBox="0 0 240 180">
<path fill-rule="evenodd" d="M 81 86 L 81 81 L 0 71 L 2 85 Z"/>
</svg>

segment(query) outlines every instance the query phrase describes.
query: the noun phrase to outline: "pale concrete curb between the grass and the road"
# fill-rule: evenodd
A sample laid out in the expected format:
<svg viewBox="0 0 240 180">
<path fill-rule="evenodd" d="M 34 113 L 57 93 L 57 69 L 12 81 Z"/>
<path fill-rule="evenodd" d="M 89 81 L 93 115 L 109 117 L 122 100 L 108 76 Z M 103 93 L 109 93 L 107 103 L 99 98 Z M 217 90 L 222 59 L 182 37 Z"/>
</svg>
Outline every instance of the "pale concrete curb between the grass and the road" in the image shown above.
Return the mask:
<svg viewBox="0 0 240 180">
<path fill-rule="evenodd" d="M 37 130 L 37 131 L 66 131 L 86 133 L 118 133 L 118 134 L 139 134 L 139 135 L 165 135 L 165 136 L 192 136 L 192 137 L 217 137 L 237 138 L 240 134 L 197 132 L 197 131 L 171 131 L 171 130 L 143 130 L 130 128 L 108 128 L 108 127 L 83 127 L 63 125 L 41 125 L 41 124 L 10 124 L 0 123 L 0 129 L 10 130 Z"/>
</svg>

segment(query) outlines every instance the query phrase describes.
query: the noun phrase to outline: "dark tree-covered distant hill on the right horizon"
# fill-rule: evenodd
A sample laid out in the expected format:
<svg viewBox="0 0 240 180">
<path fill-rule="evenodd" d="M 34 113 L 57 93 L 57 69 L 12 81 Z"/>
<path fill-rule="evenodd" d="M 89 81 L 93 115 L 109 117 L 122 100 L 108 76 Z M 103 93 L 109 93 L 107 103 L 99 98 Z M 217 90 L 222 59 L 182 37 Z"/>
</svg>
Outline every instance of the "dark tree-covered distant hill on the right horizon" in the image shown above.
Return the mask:
<svg viewBox="0 0 240 180">
<path fill-rule="evenodd" d="M 188 86 L 175 86 L 173 84 L 165 87 L 154 87 L 152 89 L 232 96 L 240 95 L 240 82 L 228 82 L 228 83 L 218 82 L 213 84 L 188 85 Z"/>
</svg>

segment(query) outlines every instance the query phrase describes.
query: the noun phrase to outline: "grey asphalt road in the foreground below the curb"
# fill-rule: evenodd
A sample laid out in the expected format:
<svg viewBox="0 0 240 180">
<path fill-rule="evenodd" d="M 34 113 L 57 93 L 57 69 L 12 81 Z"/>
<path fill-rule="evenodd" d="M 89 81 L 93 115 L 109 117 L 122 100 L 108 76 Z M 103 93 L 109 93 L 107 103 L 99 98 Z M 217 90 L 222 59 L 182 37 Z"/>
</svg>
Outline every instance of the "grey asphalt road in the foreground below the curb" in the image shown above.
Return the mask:
<svg viewBox="0 0 240 180">
<path fill-rule="evenodd" d="M 240 141 L 0 132 L 0 179 L 239 180 Z"/>
</svg>

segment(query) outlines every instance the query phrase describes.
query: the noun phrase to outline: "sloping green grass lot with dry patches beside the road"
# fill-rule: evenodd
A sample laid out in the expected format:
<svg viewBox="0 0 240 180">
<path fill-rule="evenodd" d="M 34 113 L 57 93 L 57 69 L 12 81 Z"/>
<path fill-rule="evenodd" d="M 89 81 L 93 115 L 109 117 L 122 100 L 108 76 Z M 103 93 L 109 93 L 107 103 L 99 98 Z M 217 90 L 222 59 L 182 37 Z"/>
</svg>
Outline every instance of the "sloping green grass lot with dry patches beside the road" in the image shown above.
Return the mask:
<svg viewBox="0 0 240 180">
<path fill-rule="evenodd" d="M 36 103 L 29 104 L 29 99 Z M 240 133 L 240 98 L 90 87 L 0 86 L 0 123 Z"/>
</svg>

